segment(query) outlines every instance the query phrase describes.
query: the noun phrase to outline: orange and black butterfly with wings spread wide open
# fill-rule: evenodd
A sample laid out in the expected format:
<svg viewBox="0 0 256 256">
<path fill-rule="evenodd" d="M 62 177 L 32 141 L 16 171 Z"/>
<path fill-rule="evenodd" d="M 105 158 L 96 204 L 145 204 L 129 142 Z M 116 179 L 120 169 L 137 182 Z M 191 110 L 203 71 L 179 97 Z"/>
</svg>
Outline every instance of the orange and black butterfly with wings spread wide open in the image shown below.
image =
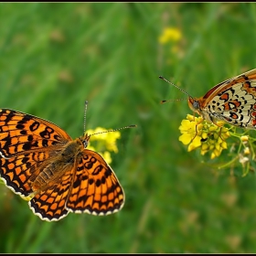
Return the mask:
<svg viewBox="0 0 256 256">
<path fill-rule="evenodd" d="M 54 123 L 1 109 L 0 176 L 5 186 L 47 221 L 69 212 L 117 212 L 124 204 L 123 187 L 102 156 L 86 149 L 90 136 L 72 140 Z"/>
</svg>

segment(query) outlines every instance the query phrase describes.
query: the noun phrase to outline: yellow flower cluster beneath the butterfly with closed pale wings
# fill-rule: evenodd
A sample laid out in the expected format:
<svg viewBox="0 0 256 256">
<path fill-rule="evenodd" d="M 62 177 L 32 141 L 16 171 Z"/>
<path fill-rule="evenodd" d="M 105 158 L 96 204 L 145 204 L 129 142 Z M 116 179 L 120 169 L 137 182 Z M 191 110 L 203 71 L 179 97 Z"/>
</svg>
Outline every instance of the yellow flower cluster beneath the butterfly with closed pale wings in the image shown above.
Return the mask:
<svg viewBox="0 0 256 256">
<path fill-rule="evenodd" d="M 225 140 L 229 138 L 229 130 L 223 127 L 223 122 L 208 123 L 201 116 L 195 117 L 187 114 L 187 119 L 179 126 L 179 141 L 188 144 L 187 151 L 201 148 L 201 155 L 211 151 L 210 158 L 213 159 L 221 154 L 223 149 L 227 149 Z"/>
</svg>

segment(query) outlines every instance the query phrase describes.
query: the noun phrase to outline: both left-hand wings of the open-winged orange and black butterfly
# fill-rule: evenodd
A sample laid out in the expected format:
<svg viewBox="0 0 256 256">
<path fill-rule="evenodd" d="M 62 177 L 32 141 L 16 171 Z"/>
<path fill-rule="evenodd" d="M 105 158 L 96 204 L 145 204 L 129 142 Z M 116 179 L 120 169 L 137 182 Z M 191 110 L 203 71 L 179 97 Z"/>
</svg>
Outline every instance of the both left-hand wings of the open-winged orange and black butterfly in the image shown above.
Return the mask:
<svg viewBox="0 0 256 256">
<path fill-rule="evenodd" d="M 71 140 L 54 123 L 13 110 L 0 110 L 0 176 L 16 194 L 32 193 L 29 181 L 57 148 Z"/>
</svg>

